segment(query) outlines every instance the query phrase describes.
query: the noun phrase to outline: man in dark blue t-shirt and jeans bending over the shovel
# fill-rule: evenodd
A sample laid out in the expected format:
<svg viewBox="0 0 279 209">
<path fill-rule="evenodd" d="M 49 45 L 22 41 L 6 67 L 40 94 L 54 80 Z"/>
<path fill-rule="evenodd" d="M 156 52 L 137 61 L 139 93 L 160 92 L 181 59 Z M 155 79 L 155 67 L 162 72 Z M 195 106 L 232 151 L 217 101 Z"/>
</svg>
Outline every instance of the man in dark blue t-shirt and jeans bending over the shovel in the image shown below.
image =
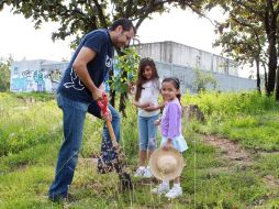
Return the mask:
<svg viewBox="0 0 279 209">
<path fill-rule="evenodd" d="M 136 31 L 127 19 L 113 22 L 109 30 L 94 30 L 81 40 L 57 89 L 57 105 L 63 110 L 64 142 L 60 146 L 55 179 L 48 198 L 57 201 L 68 197 L 90 103 L 102 99 L 99 88 L 112 67 L 114 48 L 129 46 Z M 94 109 L 98 107 L 94 107 Z M 100 110 L 100 109 L 99 109 Z M 102 116 L 108 120 L 108 116 Z"/>
</svg>

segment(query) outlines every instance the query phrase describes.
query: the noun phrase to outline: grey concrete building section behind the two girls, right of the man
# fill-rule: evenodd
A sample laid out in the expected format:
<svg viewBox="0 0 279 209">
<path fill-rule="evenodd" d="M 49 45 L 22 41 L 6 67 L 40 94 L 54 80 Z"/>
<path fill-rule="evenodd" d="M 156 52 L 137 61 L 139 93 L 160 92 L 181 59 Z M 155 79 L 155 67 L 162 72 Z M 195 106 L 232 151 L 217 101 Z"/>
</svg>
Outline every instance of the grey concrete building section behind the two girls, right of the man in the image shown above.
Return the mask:
<svg viewBox="0 0 279 209">
<path fill-rule="evenodd" d="M 141 57 L 150 57 L 155 61 L 161 78 L 178 77 L 182 92 L 197 91 L 194 68 L 211 74 L 216 80 L 216 90 L 241 91 L 256 88 L 255 80 L 238 77 L 237 63 L 232 59 L 168 41 L 138 44 L 135 47 Z M 208 88 L 212 89 L 213 86 L 209 85 Z"/>
</svg>

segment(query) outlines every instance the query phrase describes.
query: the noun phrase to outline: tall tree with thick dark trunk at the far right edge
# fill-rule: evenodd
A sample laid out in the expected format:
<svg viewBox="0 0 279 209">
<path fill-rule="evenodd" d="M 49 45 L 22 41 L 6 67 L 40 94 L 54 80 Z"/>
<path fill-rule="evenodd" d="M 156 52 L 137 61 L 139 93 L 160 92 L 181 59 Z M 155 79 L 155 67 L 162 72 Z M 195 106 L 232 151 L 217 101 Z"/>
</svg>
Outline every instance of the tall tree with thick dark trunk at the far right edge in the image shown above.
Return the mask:
<svg viewBox="0 0 279 209">
<path fill-rule="evenodd" d="M 279 1 L 215 0 L 210 1 L 209 8 L 215 7 L 216 4 L 221 6 L 228 13 L 228 19 L 232 20 L 227 20 L 227 22 L 232 23 L 235 21 L 235 24 L 245 29 L 245 33 L 242 33 L 242 35 L 246 34 L 246 37 L 249 40 L 253 38 L 255 44 L 257 44 L 257 38 L 258 41 L 266 40 L 266 54 L 268 57 L 267 95 L 272 95 L 275 91 L 276 77 L 277 84 L 279 82 L 279 72 L 277 69 Z M 239 31 L 237 34 L 239 34 Z M 245 53 L 245 47 L 242 47 L 242 50 L 244 54 L 247 54 Z M 253 51 L 255 51 L 255 48 Z M 279 85 L 276 87 L 276 99 L 279 100 Z"/>
</svg>

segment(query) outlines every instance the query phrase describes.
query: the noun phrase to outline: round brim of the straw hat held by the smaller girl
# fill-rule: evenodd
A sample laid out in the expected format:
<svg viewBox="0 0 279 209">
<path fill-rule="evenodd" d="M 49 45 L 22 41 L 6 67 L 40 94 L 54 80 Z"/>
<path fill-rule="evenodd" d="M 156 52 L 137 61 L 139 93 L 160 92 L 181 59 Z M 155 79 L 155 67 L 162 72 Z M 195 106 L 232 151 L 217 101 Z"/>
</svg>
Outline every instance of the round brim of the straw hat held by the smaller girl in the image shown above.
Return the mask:
<svg viewBox="0 0 279 209">
<path fill-rule="evenodd" d="M 175 157 L 177 161 L 177 166 L 171 173 L 164 173 L 157 167 L 157 161 L 160 158 L 160 156 L 164 155 L 171 155 L 171 157 Z M 176 177 L 180 176 L 183 169 L 183 157 L 182 155 L 174 147 L 170 147 L 168 151 L 165 151 L 163 148 L 156 150 L 150 158 L 149 158 L 149 167 L 152 174 L 160 179 L 160 180 L 172 180 Z"/>
</svg>

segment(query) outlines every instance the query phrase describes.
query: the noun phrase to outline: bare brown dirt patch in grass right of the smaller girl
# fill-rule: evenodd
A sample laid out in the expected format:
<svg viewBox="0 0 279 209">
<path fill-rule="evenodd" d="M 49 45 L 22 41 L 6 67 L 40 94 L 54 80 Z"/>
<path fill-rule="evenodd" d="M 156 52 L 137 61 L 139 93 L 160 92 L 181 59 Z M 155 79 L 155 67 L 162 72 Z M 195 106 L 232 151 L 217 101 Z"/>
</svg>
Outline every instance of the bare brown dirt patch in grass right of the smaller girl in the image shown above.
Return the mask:
<svg viewBox="0 0 279 209">
<path fill-rule="evenodd" d="M 228 160 L 233 164 L 243 166 L 249 166 L 252 164 L 252 153 L 243 150 L 237 142 L 215 135 L 205 135 L 204 142 L 216 147 L 221 152 L 222 157 Z"/>
</svg>

